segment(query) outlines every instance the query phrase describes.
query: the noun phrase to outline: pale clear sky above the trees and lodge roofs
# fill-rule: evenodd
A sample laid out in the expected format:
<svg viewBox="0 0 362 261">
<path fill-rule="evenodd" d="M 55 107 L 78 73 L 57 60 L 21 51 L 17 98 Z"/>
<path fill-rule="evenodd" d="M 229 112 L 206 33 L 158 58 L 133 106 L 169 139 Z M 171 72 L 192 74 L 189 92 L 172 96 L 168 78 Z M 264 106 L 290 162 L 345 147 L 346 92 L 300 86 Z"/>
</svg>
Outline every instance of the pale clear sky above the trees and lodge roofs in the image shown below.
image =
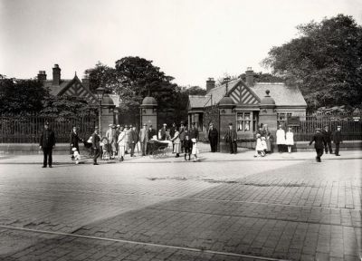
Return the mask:
<svg viewBox="0 0 362 261">
<path fill-rule="evenodd" d="M 261 65 L 296 26 L 337 14 L 362 24 L 361 0 L 0 0 L 0 74 L 62 79 L 139 56 L 181 86 Z"/>
</svg>

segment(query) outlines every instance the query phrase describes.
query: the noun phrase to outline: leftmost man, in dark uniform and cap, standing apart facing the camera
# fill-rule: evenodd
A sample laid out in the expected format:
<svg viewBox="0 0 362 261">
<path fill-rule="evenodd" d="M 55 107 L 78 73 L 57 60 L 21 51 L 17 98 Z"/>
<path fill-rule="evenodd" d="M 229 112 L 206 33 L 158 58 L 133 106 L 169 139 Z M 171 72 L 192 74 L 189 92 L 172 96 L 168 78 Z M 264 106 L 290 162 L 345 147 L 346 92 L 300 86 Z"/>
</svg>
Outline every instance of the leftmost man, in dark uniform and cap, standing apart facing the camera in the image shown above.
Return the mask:
<svg viewBox="0 0 362 261">
<path fill-rule="evenodd" d="M 39 140 L 39 148 L 43 150 L 43 167 L 46 168 L 48 165 L 49 168 L 52 168 L 52 149 L 55 147 L 55 134 L 51 130 L 49 122 L 44 123 L 44 130 Z"/>
</svg>

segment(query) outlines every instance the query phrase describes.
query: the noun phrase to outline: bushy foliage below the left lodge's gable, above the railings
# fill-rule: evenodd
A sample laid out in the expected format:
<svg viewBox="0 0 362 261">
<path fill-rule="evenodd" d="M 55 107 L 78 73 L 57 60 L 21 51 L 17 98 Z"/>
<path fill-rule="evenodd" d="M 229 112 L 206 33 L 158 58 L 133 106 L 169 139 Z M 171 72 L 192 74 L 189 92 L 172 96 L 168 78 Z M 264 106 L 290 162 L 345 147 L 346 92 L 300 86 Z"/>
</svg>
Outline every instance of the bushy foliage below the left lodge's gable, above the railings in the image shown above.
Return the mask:
<svg viewBox="0 0 362 261">
<path fill-rule="evenodd" d="M 60 118 L 78 118 L 94 112 L 95 108 L 81 97 L 48 96 L 43 101 L 43 110 L 40 114 Z"/>
</svg>

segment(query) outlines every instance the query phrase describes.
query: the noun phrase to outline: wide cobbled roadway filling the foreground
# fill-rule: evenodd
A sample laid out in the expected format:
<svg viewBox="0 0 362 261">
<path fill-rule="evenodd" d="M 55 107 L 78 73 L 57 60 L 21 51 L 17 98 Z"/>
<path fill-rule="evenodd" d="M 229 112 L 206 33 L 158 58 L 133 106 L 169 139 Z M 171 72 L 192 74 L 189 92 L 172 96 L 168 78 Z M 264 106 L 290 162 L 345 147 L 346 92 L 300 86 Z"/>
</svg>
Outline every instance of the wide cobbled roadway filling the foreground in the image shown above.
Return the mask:
<svg viewBox="0 0 362 261">
<path fill-rule="evenodd" d="M 136 162 L 1 164 L 0 259 L 360 260 L 359 159 Z"/>
</svg>

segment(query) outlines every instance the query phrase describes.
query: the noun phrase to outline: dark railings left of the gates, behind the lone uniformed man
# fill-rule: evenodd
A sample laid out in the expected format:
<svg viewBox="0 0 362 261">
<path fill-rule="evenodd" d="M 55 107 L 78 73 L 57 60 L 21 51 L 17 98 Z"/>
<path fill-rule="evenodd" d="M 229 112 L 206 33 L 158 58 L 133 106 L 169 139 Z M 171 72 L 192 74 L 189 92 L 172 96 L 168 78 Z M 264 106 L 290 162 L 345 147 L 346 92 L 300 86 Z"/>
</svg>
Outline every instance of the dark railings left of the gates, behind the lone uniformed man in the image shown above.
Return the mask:
<svg viewBox="0 0 362 261">
<path fill-rule="evenodd" d="M 79 136 L 88 139 L 97 126 L 97 117 L 55 118 L 46 116 L 0 115 L 0 143 L 37 143 L 43 132 L 44 122 L 49 121 L 57 142 L 70 142 L 73 126 L 79 128 Z"/>
</svg>

